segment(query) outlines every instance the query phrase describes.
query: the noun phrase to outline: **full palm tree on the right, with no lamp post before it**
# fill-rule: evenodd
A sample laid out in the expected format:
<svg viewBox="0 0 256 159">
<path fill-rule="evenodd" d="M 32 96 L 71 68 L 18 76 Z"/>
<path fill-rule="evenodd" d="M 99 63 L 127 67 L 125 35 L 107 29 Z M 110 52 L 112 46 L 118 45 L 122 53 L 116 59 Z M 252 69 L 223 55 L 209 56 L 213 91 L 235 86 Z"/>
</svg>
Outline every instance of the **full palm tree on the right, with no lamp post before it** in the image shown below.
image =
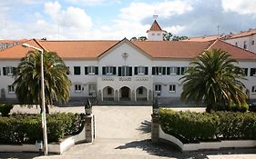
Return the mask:
<svg viewBox="0 0 256 159">
<path fill-rule="evenodd" d="M 244 104 L 247 95 L 242 91 L 244 78 L 238 62 L 230 59 L 227 52 L 220 49 L 205 51 L 190 62 L 186 75 L 181 77 L 185 102 L 204 102 L 207 112 L 229 107 L 231 104 Z"/>
</svg>

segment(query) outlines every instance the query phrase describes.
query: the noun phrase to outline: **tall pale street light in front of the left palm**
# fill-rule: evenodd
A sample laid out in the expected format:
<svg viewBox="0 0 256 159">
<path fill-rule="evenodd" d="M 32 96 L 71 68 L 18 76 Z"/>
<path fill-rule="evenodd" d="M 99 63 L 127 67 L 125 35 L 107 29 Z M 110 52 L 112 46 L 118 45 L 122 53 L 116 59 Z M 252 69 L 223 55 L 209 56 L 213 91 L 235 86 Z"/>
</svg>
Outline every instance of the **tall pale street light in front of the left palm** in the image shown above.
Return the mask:
<svg viewBox="0 0 256 159">
<path fill-rule="evenodd" d="M 48 154 L 48 144 L 47 144 L 47 131 L 46 131 L 46 103 L 45 103 L 45 77 L 44 77 L 44 50 L 33 45 L 23 44 L 23 47 L 30 47 L 40 52 L 41 61 L 41 94 L 42 94 L 42 127 L 43 127 L 43 138 L 44 138 L 44 153 Z"/>
</svg>

